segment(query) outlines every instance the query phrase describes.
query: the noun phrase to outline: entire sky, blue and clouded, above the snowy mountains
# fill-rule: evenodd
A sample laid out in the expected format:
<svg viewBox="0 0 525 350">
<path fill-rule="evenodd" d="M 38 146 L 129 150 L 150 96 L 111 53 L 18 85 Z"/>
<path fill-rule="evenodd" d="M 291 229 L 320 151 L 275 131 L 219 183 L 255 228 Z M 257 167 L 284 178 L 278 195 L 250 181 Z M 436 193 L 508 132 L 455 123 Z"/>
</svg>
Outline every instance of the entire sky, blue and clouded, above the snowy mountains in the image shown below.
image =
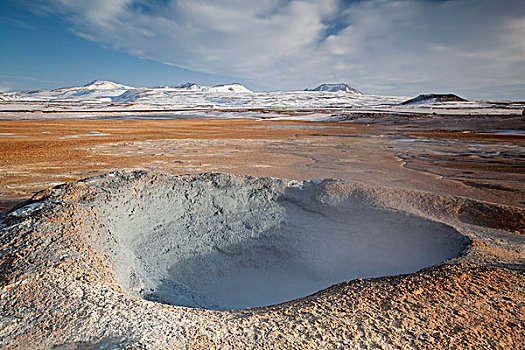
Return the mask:
<svg viewBox="0 0 525 350">
<path fill-rule="evenodd" d="M 3 0 L 0 90 L 346 82 L 525 99 L 525 2 Z"/>
</svg>

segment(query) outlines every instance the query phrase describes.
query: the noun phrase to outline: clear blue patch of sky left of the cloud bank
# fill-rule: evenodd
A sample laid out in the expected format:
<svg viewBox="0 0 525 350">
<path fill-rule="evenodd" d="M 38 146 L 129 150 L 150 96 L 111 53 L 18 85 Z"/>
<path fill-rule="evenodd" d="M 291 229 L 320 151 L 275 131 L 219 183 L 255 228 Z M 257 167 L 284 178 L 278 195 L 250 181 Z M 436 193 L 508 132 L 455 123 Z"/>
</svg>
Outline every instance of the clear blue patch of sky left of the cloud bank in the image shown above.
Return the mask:
<svg viewBox="0 0 525 350">
<path fill-rule="evenodd" d="M 131 86 L 247 83 L 141 59 L 74 34 L 56 16 L 37 15 L 16 1 L 0 1 L 0 89 L 36 90 L 113 80 Z"/>
</svg>

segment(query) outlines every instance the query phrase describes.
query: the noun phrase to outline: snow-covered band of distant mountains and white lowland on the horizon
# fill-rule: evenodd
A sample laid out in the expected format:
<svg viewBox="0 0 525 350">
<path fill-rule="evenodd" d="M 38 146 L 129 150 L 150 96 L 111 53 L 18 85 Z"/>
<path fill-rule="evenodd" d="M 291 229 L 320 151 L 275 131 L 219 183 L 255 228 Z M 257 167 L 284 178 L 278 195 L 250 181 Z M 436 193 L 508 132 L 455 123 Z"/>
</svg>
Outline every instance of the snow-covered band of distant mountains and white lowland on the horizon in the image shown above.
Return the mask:
<svg viewBox="0 0 525 350">
<path fill-rule="evenodd" d="M 205 86 L 195 82 L 181 82 L 180 85 L 151 87 L 133 87 L 108 80 L 95 80 L 85 85 L 56 88 L 53 90 L 0 92 L 0 114 L 10 117 L 9 113 L 39 111 L 62 113 L 71 117 L 76 112 L 94 111 L 171 111 L 184 113 L 197 109 L 206 111 L 206 116 L 215 116 L 216 111 L 249 111 L 245 116 L 272 114 L 279 118 L 306 118 L 307 120 L 354 120 L 353 111 L 369 108 L 378 111 L 407 110 L 428 113 L 430 110 L 454 110 L 454 113 L 516 113 L 521 115 L 525 105 L 514 101 L 476 101 L 465 100 L 454 94 L 424 94 L 410 96 L 381 96 L 362 94 L 344 83 L 321 84 L 313 89 L 272 90 L 251 92 L 241 84 Z M 488 108 L 490 107 L 490 109 Z M 330 108 L 341 112 L 281 113 L 277 110 L 300 111 Z M 352 109 L 350 111 L 349 109 Z M 481 110 L 481 108 L 483 108 Z M 235 111 L 235 112 L 234 112 Z M 263 111 L 263 112 L 260 112 Z M 73 114 L 71 114 L 73 113 Z M 200 112 L 199 112 L 200 113 Z M 219 112 L 217 112 L 219 113 Z M 228 112 L 230 113 L 230 112 Z M 378 112 L 381 113 L 381 112 Z M 15 115 L 15 114 L 13 114 Z M 51 114 L 50 114 L 51 115 Z M 53 114 L 56 117 L 58 114 Z M 178 115 L 178 114 L 177 114 Z M 182 114 L 181 114 L 182 115 Z M 26 118 L 27 115 L 23 114 Z M 38 116 L 37 116 L 38 117 Z M 171 116 L 170 116 L 171 117 Z M 32 118 L 32 117 L 31 117 Z M 341 119 L 342 118 L 342 119 Z M 356 117 L 357 118 L 357 117 Z M 360 116 L 359 116 L 360 118 Z M 301 119 L 302 120 L 302 119 Z"/>
</svg>

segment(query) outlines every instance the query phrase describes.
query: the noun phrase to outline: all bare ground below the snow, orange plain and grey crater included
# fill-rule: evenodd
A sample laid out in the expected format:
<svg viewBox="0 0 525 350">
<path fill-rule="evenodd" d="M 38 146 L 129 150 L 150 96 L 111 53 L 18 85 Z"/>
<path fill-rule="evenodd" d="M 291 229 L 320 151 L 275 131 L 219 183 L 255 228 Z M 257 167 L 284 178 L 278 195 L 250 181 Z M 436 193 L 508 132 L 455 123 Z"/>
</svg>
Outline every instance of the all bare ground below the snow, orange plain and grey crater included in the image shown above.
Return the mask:
<svg viewBox="0 0 525 350">
<path fill-rule="evenodd" d="M 524 130 L 0 121 L 0 344 L 523 348 Z"/>
</svg>

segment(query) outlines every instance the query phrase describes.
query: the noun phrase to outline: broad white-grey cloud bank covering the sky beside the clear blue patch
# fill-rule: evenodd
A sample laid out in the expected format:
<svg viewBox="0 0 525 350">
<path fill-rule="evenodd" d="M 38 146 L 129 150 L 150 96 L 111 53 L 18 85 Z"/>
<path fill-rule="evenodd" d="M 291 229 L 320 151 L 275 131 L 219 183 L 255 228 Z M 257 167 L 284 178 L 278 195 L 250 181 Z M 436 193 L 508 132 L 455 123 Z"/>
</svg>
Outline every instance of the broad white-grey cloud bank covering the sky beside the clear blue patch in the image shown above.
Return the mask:
<svg viewBox="0 0 525 350">
<path fill-rule="evenodd" d="M 525 5 L 492 0 L 51 0 L 84 38 L 269 88 L 525 91 Z M 330 33 L 334 22 L 343 29 Z M 346 26 L 346 27 L 345 27 Z M 328 31 L 328 33 L 327 33 Z M 369 90 L 367 90 L 369 89 Z M 509 90 L 511 91 L 511 90 Z"/>
</svg>

